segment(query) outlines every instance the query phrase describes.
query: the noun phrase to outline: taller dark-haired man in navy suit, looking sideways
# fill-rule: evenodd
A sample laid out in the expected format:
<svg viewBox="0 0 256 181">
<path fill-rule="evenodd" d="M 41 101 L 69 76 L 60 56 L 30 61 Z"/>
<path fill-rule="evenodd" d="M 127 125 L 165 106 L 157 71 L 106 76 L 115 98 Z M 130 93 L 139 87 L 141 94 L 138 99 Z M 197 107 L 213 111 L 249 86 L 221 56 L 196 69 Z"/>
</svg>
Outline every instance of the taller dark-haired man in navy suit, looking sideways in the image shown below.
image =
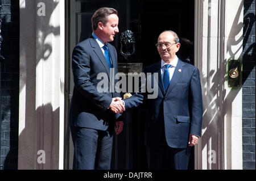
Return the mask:
<svg viewBox="0 0 256 181">
<path fill-rule="evenodd" d="M 92 28 L 92 36 L 77 44 L 72 54 L 75 87 L 69 124 L 73 169 L 110 169 L 114 129 L 119 134 L 123 127 L 118 120 L 123 102 L 120 94 L 110 90 L 111 74 L 117 74 L 117 52 L 108 42 L 118 33 L 117 10 L 98 9 L 92 16 Z M 104 91 L 97 87 L 102 73 L 107 77 Z"/>
</svg>

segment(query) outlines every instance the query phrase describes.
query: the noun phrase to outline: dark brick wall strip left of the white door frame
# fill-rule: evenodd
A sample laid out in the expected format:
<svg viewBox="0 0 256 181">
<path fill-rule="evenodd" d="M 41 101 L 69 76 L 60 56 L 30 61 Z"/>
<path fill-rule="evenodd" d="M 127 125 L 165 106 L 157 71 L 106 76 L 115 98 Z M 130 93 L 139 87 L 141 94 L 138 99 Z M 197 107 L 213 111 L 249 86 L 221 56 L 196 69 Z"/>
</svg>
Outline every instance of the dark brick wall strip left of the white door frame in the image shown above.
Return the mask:
<svg viewBox="0 0 256 181">
<path fill-rule="evenodd" d="M 17 169 L 19 110 L 19 1 L 1 1 L 1 169 Z"/>
</svg>

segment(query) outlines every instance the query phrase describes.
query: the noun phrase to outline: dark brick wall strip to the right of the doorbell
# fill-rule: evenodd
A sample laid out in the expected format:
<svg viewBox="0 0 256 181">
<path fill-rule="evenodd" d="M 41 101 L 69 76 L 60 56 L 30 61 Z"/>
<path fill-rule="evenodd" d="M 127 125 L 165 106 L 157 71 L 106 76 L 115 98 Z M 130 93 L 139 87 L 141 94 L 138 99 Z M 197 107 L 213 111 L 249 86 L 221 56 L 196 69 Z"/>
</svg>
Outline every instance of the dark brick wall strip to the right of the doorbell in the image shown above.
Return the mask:
<svg viewBox="0 0 256 181">
<path fill-rule="evenodd" d="M 243 169 L 255 170 L 255 0 L 244 0 L 242 65 Z"/>
</svg>

